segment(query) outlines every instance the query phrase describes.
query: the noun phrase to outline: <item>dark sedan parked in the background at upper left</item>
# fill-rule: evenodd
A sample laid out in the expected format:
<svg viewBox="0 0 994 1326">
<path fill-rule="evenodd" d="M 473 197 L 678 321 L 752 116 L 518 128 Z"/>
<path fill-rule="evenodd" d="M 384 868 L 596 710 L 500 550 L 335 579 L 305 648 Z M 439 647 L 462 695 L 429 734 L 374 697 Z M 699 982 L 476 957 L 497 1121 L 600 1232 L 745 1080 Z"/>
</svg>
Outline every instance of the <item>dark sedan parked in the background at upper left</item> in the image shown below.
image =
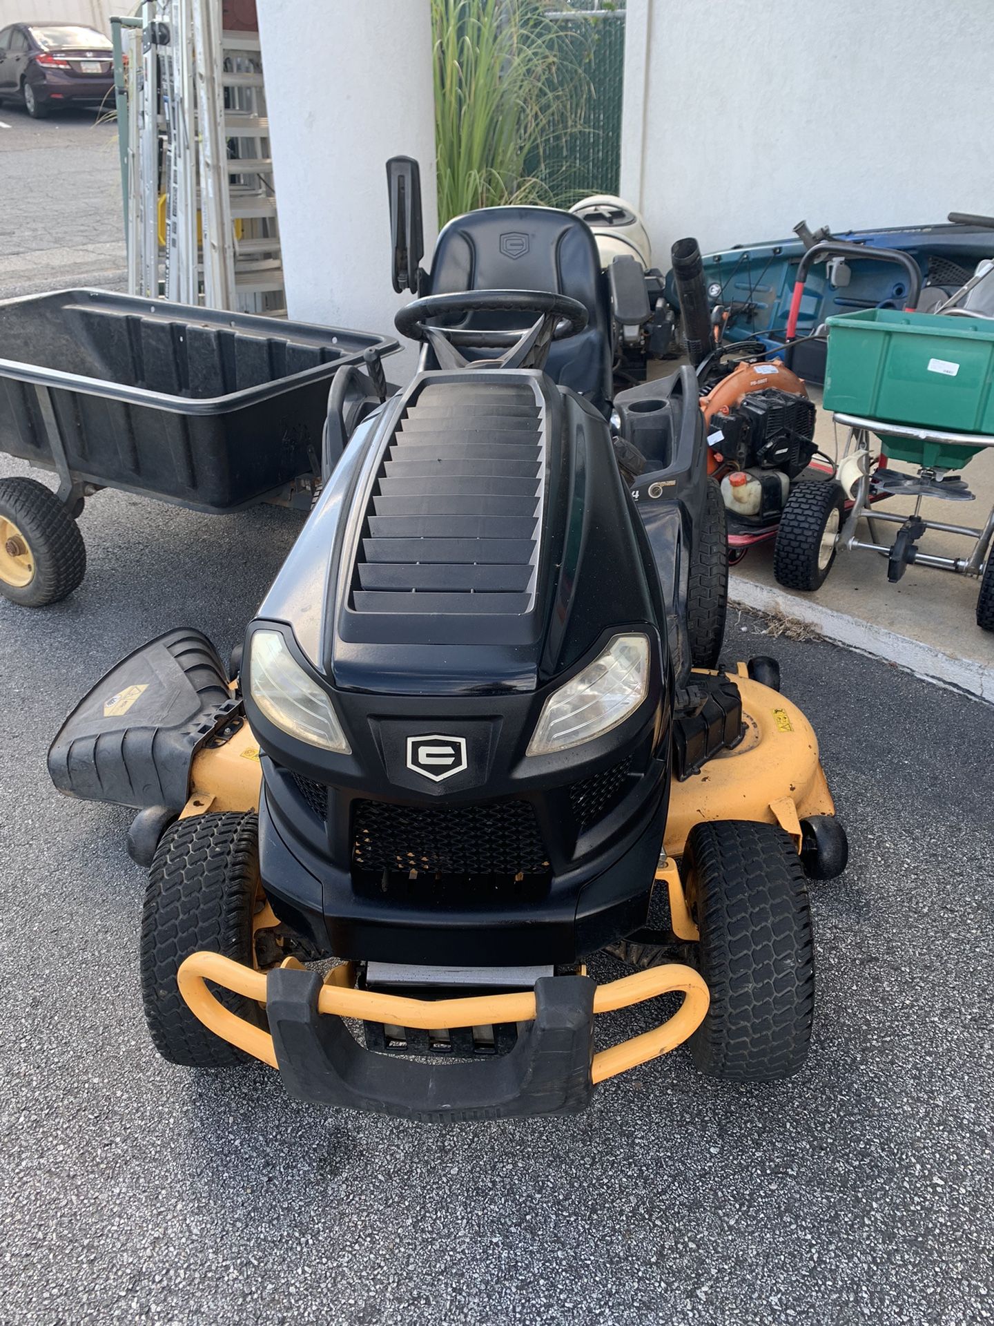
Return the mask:
<svg viewBox="0 0 994 1326">
<path fill-rule="evenodd" d="M 99 105 L 113 86 L 113 48 L 95 28 L 15 23 L 0 32 L 0 101 L 23 101 L 33 119 L 57 106 Z"/>
</svg>

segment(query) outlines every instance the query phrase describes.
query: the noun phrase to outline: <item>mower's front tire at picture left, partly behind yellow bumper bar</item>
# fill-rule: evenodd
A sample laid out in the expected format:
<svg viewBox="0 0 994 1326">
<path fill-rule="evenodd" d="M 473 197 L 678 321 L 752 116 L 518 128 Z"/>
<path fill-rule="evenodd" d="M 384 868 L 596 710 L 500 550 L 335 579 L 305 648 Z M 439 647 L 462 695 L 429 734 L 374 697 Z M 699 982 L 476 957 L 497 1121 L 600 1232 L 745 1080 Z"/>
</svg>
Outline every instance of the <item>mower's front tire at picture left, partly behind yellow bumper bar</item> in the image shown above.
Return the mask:
<svg viewBox="0 0 994 1326">
<path fill-rule="evenodd" d="M 253 965 L 253 916 L 260 899 L 258 821 L 253 814 L 205 814 L 166 830 L 148 873 L 142 912 L 142 1002 L 155 1048 L 172 1063 L 215 1069 L 249 1055 L 213 1036 L 187 1008 L 176 973 L 207 949 Z M 232 1013 L 256 1026 L 253 1000 L 219 989 Z"/>
</svg>

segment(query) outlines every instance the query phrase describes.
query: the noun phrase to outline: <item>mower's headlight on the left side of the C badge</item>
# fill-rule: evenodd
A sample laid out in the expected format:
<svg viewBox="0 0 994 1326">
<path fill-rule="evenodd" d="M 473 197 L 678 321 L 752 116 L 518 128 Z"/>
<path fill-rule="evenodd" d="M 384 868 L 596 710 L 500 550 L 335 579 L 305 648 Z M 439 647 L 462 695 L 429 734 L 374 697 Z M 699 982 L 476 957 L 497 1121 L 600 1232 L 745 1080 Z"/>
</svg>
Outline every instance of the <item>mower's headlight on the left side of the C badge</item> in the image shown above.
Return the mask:
<svg viewBox="0 0 994 1326">
<path fill-rule="evenodd" d="M 278 631 L 256 631 L 249 664 L 252 699 L 277 728 L 298 741 L 350 754 L 331 700 L 286 647 Z"/>
</svg>

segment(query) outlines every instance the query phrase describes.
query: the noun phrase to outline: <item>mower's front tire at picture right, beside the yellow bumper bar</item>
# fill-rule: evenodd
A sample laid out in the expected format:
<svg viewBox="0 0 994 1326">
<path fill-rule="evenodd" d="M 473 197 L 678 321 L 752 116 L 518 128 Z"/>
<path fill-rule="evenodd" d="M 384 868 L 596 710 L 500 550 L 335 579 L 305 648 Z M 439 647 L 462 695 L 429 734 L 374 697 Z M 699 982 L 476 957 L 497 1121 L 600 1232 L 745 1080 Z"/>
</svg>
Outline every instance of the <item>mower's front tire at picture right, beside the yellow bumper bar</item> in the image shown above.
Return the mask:
<svg viewBox="0 0 994 1326">
<path fill-rule="evenodd" d="M 694 1063 L 726 1082 L 797 1073 L 811 1038 L 815 969 L 804 869 L 791 838 L 751 821 L 696 825 L 684 880 L 710 991 L 690 1037 Z"/>
</svg>

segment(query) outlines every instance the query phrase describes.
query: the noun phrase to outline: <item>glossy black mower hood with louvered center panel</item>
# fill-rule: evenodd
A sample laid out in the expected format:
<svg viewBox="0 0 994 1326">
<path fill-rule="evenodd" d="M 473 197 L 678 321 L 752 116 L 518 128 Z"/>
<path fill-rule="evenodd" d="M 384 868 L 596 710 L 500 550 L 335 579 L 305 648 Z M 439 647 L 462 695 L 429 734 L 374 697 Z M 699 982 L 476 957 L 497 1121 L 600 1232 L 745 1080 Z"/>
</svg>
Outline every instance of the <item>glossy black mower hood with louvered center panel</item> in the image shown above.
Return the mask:
<svg viewBox="0 0 994 1326">
<path fill-rule="evenodd" d="M 419 373 L 346 447 L 260 610 L 338 690 L 534 691 L 664 621 L 603 418 L 538 370 Z"/>
</svg>

